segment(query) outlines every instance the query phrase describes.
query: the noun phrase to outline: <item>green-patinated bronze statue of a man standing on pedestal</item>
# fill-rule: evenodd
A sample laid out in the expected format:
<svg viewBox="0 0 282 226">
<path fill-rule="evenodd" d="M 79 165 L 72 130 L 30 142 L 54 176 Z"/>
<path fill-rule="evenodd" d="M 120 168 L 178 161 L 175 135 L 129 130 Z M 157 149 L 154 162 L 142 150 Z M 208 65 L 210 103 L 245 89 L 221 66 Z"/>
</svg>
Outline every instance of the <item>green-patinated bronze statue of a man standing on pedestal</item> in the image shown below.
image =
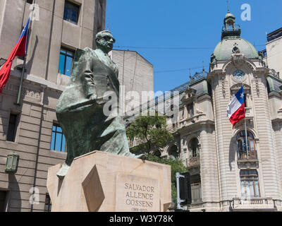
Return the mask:
<svg viewBox="0 0 282 226">
<path fill-rule="evenodd" d="M 108 53 L 115 40 L 109 31 L 96 35 L 97 49 L 78 49 L 75 52 L 70 81 L 57 104 L 56 115 L 66 136 L 66 162 L 57 173 L 63 178 L 75 157 L 93 150 L 136 156 L 129 151 L 125 126 L 118 114 L 104 114 L 109 98 L 119 97 L 118 66 Z"/>
</svg>

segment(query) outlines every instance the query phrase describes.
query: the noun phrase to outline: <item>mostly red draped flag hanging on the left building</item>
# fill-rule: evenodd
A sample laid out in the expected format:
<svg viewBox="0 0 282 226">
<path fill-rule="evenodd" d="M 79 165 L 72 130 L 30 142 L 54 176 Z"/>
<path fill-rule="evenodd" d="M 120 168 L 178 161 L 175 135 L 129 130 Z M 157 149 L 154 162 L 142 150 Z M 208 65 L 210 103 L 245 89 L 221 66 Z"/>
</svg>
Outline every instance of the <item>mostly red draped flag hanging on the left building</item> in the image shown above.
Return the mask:
<svg viewBox="0 0 282 226">
<path fill-rule="evenodd" d="M 2 93 L 2 89 L 6 85 L 10 76 L 13 59 L 15 59 L 15 57 L 25 56 L 26 54 L 27 30 L 29 23 L 30 18 L 28 18 L 27 23 L 25 24 L 25 28 L 23 28 L 23 31 L 20 34 L 17 44 L 15 45 L 15 47 L 13 47 L 10 56 L 8 57 L 7 61 L 0 70 L 0 93 Z"/>
</svg>

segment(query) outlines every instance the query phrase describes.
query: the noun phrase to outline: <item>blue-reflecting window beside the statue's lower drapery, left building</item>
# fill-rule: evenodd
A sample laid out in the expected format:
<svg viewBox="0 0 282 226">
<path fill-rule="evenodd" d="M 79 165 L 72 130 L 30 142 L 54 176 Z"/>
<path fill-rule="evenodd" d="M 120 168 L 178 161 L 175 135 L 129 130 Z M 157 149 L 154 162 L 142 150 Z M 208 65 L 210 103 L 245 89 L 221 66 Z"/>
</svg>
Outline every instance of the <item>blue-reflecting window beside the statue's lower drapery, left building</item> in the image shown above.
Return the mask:
<svg viewBox="0 0 282 226">
<path fill-rule="evenodd" d="M 57 124 L 54 124 L 52 129 L 51 150 L 62 152 L 66 150 L 66 138 L 61 127 Z"/>
</svg>

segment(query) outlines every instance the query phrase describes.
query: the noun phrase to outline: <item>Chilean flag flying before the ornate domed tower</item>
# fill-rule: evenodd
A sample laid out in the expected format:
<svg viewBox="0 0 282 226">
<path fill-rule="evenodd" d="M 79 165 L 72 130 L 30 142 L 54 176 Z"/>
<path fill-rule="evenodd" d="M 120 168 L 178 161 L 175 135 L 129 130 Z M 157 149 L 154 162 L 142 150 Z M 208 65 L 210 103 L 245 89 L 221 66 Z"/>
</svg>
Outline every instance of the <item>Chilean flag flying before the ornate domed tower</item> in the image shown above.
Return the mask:
<svg viewBox="0 0 282 226">
<path fill-rule="evenodd" d="M 227 116 L 234 127 L 238 121 L 245 118 L 245 114 L 244 88 L 242 86 L 229 103 L 227 107 Z"/>
</svg>

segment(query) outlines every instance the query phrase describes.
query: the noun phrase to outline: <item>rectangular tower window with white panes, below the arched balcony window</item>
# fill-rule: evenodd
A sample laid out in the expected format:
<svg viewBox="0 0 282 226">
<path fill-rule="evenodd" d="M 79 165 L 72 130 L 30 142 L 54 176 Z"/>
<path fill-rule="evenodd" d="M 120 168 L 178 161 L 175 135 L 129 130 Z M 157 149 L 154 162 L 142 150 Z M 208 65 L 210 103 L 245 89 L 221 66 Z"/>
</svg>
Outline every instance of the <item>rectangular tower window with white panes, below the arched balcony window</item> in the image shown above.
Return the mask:
<svg viewBox="0 0 282 226">
<path fill-rule="evenodd" d="M 240 181 L 242 198 L 260 197 L 259 175 L 256 169 L 241 169 Z"/>
</svg>

